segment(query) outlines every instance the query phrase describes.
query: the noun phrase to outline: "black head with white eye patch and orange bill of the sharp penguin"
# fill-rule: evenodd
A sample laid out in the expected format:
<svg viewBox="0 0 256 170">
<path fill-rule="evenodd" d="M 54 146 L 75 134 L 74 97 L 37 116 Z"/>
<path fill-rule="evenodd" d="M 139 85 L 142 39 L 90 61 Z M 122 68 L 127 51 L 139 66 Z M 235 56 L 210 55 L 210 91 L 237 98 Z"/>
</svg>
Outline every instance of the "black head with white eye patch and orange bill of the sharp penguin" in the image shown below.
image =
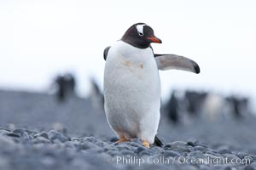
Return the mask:
<svg viewBox="0 0 256 170">
<path fill-rule="evenodd" d="M 121 40 L 136 48 L 148 48 L 151 42 L 162 42 L 158 37 L 154 36 L 153 29 L 144 23 L 132 25 L 125 32 L 125 35 L 121 38 Z"/>
</svg>

